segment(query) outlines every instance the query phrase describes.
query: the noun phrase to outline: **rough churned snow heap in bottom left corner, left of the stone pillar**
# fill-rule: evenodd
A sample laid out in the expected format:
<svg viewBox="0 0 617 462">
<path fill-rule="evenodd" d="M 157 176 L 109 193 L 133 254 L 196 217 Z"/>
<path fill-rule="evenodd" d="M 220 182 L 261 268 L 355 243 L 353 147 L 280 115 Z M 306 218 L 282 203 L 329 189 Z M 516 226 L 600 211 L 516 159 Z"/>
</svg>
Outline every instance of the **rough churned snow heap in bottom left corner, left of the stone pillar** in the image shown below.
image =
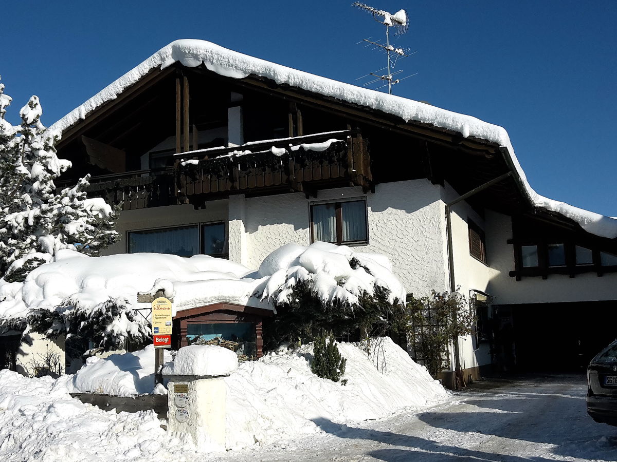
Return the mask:
<svg viewBox="0 0 617 462">
<path fill-rule="evenodd" d="M 160 428 L 154 411 L 103 411 L 68 395 L 67 381 L 0 370 L 4 461 L 200 460 L 193 444 Z"/>
</svg>

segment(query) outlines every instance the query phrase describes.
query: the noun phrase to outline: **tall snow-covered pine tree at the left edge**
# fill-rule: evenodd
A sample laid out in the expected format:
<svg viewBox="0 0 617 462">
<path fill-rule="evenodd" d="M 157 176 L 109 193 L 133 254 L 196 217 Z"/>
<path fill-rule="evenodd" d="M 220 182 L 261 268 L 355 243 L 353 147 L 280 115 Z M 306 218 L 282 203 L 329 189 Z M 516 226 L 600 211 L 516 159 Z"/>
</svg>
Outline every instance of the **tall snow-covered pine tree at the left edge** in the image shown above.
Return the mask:
<svg viewBox="0 0 617 462">
<path fill-rule="evenodd" d="M 0 275 L 7 282 L 23 280 L 60 249 L 97 255 L 120 238 L 118 209 L 86 198 L 88 177 L 56 192 L 54 179 L 71 163 L 57 158 L 60 136 L 41 123 L 38 97 L 20 110 L 20 126 L 5 119 L 10 102 L 0 84 Z"/>
</svg>

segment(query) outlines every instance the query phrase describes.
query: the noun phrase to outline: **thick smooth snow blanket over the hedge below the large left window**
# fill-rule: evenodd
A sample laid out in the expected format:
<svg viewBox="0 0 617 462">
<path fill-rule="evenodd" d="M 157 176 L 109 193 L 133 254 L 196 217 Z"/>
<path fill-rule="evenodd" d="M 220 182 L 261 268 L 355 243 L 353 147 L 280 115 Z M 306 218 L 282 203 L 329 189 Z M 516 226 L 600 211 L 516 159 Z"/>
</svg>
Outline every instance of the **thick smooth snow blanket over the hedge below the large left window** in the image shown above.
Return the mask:
<svg viewBox="0 0 617 462">
<path fill-rule="evenodd" d="M 177 310 L 216 302 L 267 307 L 251 298 L 260 281 L 243 279 L 249 273 L 251 270 L 242 265 L 207 255 L 89 257 L 61 250 L 55 261 L 31 271 L 23 283 L 0 280 L 0 318 L 23 317 L 32 309 L 96 310 L 110 299 L 125 306 L 147 307 L 149 304 L 138 305 L 137 294 L 152 288 L 157 280 L 167 281 L 157 288 L 171 289 L 172 293 L 175 289 L 177 293 L 174 315 Z"/>
</svg>

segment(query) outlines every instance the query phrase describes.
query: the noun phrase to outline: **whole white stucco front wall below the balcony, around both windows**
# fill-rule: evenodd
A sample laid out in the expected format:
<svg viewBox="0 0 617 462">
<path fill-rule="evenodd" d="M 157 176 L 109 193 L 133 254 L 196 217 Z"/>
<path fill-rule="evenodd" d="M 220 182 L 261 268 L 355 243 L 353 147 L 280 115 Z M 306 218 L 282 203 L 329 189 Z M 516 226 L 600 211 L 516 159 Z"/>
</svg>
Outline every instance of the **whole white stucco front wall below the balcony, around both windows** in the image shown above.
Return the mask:
<svg viewBox="0 0 617 462">
<path fill-rule="evenodd" d="M 310 244 L 310 205 L 363 198 L 367 203 L 368 245 L 358 252 L 383 253 L 409 293 L 428 295 L 448 289 L 444 204 L 441 187 L 428 180 L 376 185 L 375 193 L 359 187 L 319 192 L 307 200 L 303 193 L 209 201 L 205 208 L 191 205 L 123 211 L 117 223 L 122 241 L 102 254 L 126 252 L 130 230 L 225 221 L 232 261 L 257 269 L 271 251 L 287 243 Z M 466 245 L 466 243 L 465 243 Z"/>
</svg>

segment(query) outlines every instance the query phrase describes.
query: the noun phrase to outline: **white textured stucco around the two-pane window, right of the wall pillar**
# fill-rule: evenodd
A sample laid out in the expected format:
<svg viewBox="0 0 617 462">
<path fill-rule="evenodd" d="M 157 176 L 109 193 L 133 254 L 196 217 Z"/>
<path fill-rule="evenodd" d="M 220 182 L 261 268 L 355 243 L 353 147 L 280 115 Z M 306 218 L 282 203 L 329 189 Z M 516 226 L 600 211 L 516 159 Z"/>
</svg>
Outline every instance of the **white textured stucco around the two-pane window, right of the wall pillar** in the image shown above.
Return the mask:
<svg viewBox="0 0 617 462">
<path fill-rule="evenodd" d="M 358 252 L 383 253 L 409 293 L 424 296 L 445 290 L 444 233 L 439 186 L 428 180 L 379 184 L 375 193 L 359 187 L 320 191 L 307 200 L 302 193 L 246 199 L 249 267 L 258 267 L 271 251 L 286 243 L 309 245 L 310 205 L 323 201 L 365 198 L 368 209 L 368 245 Z"/>
</svg>

